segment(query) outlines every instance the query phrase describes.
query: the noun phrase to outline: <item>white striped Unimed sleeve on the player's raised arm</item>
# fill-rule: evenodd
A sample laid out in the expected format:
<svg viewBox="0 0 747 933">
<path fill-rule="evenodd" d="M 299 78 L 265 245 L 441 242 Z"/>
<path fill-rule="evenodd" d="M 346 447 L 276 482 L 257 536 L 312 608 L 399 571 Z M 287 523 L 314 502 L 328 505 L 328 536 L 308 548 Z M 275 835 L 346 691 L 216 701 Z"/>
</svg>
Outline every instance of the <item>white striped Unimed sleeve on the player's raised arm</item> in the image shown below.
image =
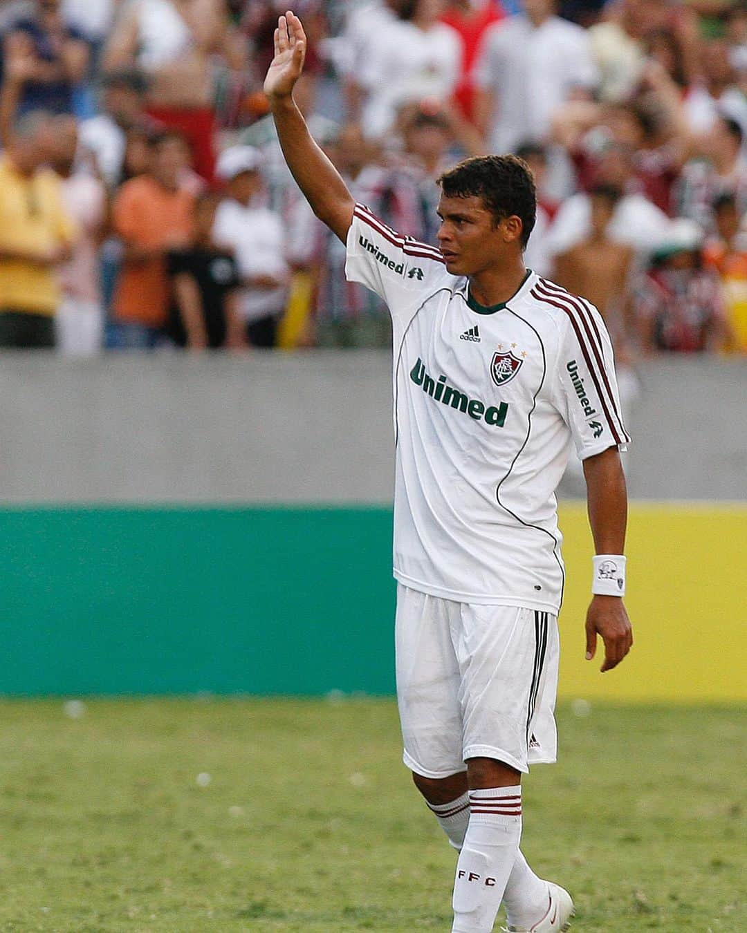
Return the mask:
<svg viewBox="0 0 747 933">
<path fill-rule="evenodd" d="M 345 277 L 384 299 L 393 317 L 456 279 L 435 246 L 404 237 L 356 204 L 347 231 Z"/>
</svg>

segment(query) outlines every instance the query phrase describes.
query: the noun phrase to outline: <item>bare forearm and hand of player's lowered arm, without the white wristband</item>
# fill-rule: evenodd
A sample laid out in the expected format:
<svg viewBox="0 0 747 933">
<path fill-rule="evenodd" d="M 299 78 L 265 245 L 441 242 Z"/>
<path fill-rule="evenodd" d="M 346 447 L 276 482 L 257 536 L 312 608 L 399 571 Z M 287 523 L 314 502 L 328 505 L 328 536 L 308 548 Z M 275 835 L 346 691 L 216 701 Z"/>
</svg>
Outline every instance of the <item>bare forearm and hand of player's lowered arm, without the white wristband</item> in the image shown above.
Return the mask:
<svg viewBox="0 0 747 933">
<path fill-rule="evenodd" d="M 597 554 L 623 554 L 627 528 L 627 488 L 617 447 L 584 460 L 589 524 Z M 625 658 L 633 632 L 619 596 L 595 595 L 586 613 L 586 660 L 597 651 L 597 635 L 604 641 L 602 671 Z"/>
</svg>

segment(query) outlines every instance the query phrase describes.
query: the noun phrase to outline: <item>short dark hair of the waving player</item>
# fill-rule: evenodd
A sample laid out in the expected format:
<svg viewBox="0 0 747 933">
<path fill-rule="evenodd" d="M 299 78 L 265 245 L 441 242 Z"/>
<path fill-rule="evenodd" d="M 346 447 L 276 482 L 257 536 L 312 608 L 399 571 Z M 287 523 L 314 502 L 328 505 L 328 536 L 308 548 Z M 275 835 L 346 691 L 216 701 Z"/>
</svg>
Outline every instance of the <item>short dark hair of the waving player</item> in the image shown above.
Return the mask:
<svg viewBox="0 0 747 933">
<path fill-rule="evenodd" d="M 475 156 L 438 178 L 447 198 L 482 198 L 496 224 L 506 217 L 521 220 L 521 245 L 529 243 L 537 217 L 537 191 L 529 165 L 516 156 Z"/>
</svg>

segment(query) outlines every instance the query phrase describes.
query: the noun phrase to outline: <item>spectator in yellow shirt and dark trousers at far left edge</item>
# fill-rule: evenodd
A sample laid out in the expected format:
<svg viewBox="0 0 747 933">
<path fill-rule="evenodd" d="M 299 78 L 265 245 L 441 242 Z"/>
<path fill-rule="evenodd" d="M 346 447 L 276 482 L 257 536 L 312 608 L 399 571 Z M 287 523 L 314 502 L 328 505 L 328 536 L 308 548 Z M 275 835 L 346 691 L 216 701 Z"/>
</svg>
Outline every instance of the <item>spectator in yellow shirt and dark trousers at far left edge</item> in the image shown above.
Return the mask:
<svg viewBox="0 0 747 933">
<path fill-rule="evenodd" d="M 75 236 L 60 179 L 45 167 L 49 117 L 31 113 L 16 124 L 0 158 L 0 347 L 54 346 L 60 302 L 55 268 L 70 257 Z"/>
</svg>

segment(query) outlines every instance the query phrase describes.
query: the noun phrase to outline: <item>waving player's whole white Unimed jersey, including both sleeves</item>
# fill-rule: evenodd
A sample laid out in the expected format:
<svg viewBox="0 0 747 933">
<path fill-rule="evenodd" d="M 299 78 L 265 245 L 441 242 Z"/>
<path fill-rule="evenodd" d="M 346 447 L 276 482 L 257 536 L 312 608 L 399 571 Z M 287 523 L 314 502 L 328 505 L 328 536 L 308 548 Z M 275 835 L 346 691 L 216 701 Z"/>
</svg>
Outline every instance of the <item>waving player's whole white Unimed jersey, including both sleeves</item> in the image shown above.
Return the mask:
<svg viewBox="0 0 747 933">
<path fill-rule="evenodd" d="M 582 459 L 629 441 L 598 311 L 533 272 L 482 307 L 438 249 L 360 204 L 345 272 L 393 320 L 394 576 L 444 599 L 557 614 L 569 439 Z"/>
</svg>

